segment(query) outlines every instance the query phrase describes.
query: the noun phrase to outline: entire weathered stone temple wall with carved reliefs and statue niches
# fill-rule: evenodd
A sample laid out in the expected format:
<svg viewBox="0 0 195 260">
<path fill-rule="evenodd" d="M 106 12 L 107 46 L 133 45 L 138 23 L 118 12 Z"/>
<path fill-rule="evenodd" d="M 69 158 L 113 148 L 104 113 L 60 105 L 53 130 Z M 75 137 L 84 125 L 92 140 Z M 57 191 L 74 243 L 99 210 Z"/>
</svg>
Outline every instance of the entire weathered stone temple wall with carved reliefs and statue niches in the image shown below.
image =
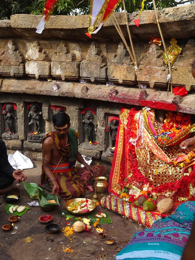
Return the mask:
<svg viewBox="0 0 195 260">
<path fill-rule="evenodd" d="M 153 11 L 142 13 L 139 27 L 133 23 L 138 12 L 129 14 L 138 59 L 137 77 L 110 19 L 92 39 L 85 35 L 86 15 L 51 16 L 42 34 L 35 33 L 41 16 L 20 14 L 0 21 L 0 110 L 5 113 L 5 103 L 17 107 L 10 112 L 15 135 L 9 133 L 8 114 L 2 114 L 0 119 L 0 134 L 9 151 L 18 149 L 31 159 L 41 159 L 42 137 L 30 135 L 38 127 L 32 120 L 38 120 L 41 134 L 53 130 L 51 119 L 58 110 L 52 106 L 61 106 L 70 115 L 72 126 L 80 132 L 79 151 L 109 164 L 112 157 L 106 156 L 106 151 L 111 139 L 106 126 L 110 124 L 109 116 L 118 116 L 121 107 L 148 106 L 195 114 L 195 80 L 191 73 L 195 59 L 194 7 L 191 4 L 159 11 L 166 46 L 173 37 L 182 47 L 172 68 L 172 84 L 186 87 L 189 92 L 184 97 L 171 93 L 167 96 L 168 68 L 161 58 L 163 46 L 148 46 L 150 36 L 160 36 Z M 129 43 L 124 14 L 117 13 L 116 17 Z M 48 82 L 49 78 L 54 81 Z M 114 84 L 106 85 L 107 81 Z M 138 81 L 147 88 L 140 90 Z M 35 103 L 39 119 L 28 117 Z M 93 142 L 98 143 L 95 145 L 88 144 L 83 123 L 86 113 L 82 114 L 85 108 L 91 109 L 86 113 L 94 111 L 91 118 L 95 124 Z"/>
</svg>

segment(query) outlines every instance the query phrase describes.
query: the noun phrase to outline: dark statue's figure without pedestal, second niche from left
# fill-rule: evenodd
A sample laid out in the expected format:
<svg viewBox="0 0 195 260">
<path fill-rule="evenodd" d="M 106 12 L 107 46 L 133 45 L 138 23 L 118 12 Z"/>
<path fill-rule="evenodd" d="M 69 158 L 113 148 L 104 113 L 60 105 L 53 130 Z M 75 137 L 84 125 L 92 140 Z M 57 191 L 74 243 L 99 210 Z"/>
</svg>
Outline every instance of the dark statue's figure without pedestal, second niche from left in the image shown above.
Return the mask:
<svg viewBox="0 0 195 260">
<path fill-rule="evenodd" d="M 30 106 L 30 112 L 28 114 L 29 119 L 29 126 L 34 124 L 37 133 L 40 133 L 40 116 L 42 116 L 42 112 L 40 112 L 40 107 L 38 104 L 32 104 Z"/>
</svg>

